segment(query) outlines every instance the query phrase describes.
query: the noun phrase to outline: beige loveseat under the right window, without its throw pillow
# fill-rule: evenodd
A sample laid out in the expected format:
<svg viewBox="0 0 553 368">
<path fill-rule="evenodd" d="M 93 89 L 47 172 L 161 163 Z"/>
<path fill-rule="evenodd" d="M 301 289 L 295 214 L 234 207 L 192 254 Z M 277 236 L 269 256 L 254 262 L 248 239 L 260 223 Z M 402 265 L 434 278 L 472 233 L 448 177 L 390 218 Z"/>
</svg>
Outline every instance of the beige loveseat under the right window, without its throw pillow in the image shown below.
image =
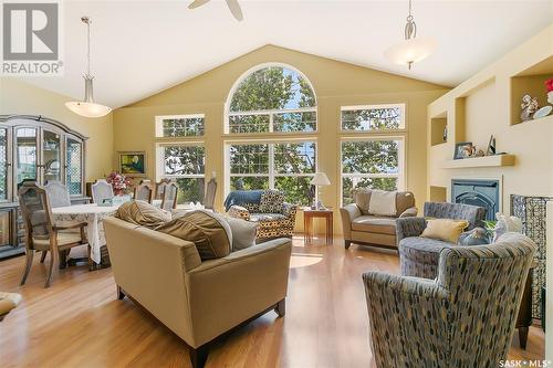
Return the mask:
<svg viewBox="0 0 553 368">
<path fill-rule="evenodd" d="M 396 219 L 417 215 L 415 196 L 410 191 L 396 194 L 395 215 L 374 215 L 368 211 L 371 190 L 356 190 L 355 203 L 340 209 L 345 248 L 352 243 L 397 249 Z"/>
</svg>

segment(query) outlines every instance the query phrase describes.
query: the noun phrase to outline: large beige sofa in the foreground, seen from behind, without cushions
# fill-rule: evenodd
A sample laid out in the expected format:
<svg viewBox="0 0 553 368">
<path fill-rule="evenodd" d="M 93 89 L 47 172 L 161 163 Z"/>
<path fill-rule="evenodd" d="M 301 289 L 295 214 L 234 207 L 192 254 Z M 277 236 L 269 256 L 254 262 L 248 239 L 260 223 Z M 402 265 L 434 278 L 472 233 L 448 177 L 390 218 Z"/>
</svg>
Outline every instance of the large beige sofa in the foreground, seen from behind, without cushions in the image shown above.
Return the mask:
<svg viewBox="0 0 553 368">
<path fill-rule="evenodd" d="M 104 229 L 118 297 L 182 338 L 195 368 L 221 334 L 272 309 L 284 315 L 290 239 L 201 262 L 191 242 L 116 218 L 105 219 Z"/>
</svg>

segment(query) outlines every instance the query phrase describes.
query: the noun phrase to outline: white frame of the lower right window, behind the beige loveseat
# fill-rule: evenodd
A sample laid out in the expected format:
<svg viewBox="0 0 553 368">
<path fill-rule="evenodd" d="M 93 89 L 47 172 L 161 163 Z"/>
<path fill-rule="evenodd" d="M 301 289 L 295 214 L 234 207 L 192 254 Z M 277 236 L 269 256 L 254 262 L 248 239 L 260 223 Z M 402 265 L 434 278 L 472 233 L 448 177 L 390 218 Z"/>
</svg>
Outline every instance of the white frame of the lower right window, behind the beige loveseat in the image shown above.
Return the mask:
<svg viewBox="0 0 553 368">
<path fill-rule="evenodd" d="M 342 144 L 346 141 L 374 141 L 374 140 L 398 140 L 397 149 L 397 174 L 361 174 L 361 172 L 345 172 L 344 174 L 344 161 L 343 161 L 343 149 Z M 406 138 L 401 135 L 396 136 L 375 136 L 365 135 L 363 137 L 342 137 L 340 139 L 340 204 L 344 206 L 344 178 L 397 178 L 397 190 L 405 190 L 405 178 L 406 178 L 406 167 L 405 167 L 405 143 Z"/>
</svg>

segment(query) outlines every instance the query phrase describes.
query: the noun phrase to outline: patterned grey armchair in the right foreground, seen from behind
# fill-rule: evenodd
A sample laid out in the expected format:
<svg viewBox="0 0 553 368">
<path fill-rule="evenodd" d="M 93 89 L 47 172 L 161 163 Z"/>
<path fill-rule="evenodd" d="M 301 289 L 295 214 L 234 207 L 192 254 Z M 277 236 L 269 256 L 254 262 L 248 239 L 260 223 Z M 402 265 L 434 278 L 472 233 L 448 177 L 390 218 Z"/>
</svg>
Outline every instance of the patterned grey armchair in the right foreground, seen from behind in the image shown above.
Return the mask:
<svg viewBox="0 0 553 368">
<path fill-rule="evenodd" d="M 532 240 L 507 233 L 444 249 L 436 280 L 363 274 L 376 366 L 499 367 L 534 252 Z"/>
</svg>

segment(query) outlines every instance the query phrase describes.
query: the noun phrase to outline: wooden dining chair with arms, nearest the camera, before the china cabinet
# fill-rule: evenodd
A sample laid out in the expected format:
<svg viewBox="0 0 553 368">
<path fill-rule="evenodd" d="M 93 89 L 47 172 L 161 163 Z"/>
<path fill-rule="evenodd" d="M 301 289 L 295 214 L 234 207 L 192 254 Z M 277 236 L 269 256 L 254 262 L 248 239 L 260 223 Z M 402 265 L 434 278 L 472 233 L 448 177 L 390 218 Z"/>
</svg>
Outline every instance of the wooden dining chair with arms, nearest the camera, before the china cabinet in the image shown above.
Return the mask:
<svg viewBox="0 0 553 368">
<path fill-rule="evenodd" d="M 35 182 L 25 182 L 20 188 L 18 196 L 21 215 L 24 221 L 27 253 L 27 264 L 21 285 L 24 285 L 31 271 L 34 251 L 50 251 L 50 264 L 44 283 L 44 287 L 49 287 L 52 282 L 52 270 L 58 257 L 62 255 L 63 260 L 65 260 L 71 248 L 87 244 L 84 232 L 86 222 L 54 223 L 46 190 L 36 186 Z M 80 231 L 64 231 L 75 229 Z M 61 252 L 63 254 L 60 254 Z"/>
</svg>

